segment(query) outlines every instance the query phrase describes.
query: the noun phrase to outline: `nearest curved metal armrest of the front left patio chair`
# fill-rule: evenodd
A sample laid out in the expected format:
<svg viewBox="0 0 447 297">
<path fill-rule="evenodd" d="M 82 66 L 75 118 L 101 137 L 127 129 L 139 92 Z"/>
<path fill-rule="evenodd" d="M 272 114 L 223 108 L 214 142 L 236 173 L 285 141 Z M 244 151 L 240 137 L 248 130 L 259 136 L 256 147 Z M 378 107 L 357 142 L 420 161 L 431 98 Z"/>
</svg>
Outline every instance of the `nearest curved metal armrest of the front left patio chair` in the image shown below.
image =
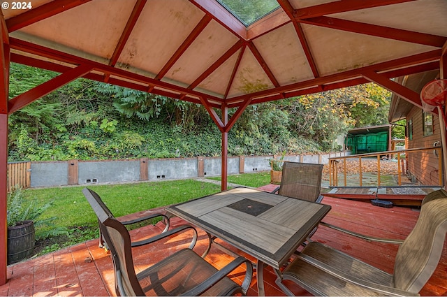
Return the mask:
<svg viewBox="0 0 447 297">
<path fill-rule="evenodd" d="M 199 296 L 204 291 L 210 289 L 210 287 L 219 282 L 219 280 L 222 280 L 223 277 L 226 277 L 226 275 L 228 275 L 230 272 L 241 266 L 242 263 L 245 263 L 245 266 L 247 267 L 247 270 L 245 271 L 244 282 L 242 282 L 241 284 L 242 293 L 246 294 L 251 284 L 251 277 L 253 277 L 253 265 L 251 264 L 251 261 L 240 256 L 228 263 L 228 265 L 223 267 L 221 270 L 214 273 L 214 275 L 208 277 L 207 280 L 199 284 L 197 287 L 182 294 L 182 296 Z"/>
</svg>

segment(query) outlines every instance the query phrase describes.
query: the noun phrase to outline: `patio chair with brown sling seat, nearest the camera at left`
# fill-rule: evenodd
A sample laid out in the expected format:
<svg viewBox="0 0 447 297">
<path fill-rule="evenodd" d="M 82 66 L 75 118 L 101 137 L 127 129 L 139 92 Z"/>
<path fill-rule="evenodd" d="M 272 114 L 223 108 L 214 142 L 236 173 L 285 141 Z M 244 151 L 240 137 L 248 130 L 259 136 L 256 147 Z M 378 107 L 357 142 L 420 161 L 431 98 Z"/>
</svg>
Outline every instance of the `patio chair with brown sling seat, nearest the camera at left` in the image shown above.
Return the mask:
<svg viewBox="0 0 447 297">
<path fill-rule="evenodd" d="M 117 296 L 226 296 L 247 293 L 253 267 L 243 257 L 217 270 L 192 249 L 184 248 L 135 273 L 131 250 L 135 245 L 131 244 L 129 231 L 104 208 L 101 199 L 91 195 L 87 188 L 83 191 L 98 217 L 104 240 L 110 248 Z M 246 270 L 244 280 L 239 285 L 227 275 L 242 264 L 245 264 Z"/>
</svg>

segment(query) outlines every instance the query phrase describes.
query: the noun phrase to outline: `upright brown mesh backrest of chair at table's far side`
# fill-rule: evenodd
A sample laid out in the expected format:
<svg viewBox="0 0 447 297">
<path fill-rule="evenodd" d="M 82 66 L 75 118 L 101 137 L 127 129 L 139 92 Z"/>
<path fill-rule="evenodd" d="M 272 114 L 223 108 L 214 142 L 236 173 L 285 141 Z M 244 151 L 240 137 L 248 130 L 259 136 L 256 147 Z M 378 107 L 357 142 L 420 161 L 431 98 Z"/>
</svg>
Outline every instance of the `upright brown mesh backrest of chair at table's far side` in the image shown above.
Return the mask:
<svg viewBox="0 0 447 297">
<path fill-rule="evenodd" d="M 284 162 L 278 194 L 315 202 L 321 192 L 323 164 Z"/>
</svg>

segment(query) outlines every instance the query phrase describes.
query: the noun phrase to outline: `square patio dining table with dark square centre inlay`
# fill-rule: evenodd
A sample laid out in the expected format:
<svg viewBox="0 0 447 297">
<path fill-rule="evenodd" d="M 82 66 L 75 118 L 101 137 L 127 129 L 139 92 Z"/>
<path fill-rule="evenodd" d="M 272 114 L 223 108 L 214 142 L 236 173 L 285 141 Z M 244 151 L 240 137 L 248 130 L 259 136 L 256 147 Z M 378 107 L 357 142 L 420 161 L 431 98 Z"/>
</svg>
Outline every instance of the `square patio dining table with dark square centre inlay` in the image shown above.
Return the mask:
<svg viewBox="0 0 447 297">
<path fill-rule="evenodd" d="M 258 295 L 263 296 L 263 265 L 281 266 L 329 212 L 330 205 L 237 187 L 166 211 L 228 242 L 256 259 Z"/>
</svg>

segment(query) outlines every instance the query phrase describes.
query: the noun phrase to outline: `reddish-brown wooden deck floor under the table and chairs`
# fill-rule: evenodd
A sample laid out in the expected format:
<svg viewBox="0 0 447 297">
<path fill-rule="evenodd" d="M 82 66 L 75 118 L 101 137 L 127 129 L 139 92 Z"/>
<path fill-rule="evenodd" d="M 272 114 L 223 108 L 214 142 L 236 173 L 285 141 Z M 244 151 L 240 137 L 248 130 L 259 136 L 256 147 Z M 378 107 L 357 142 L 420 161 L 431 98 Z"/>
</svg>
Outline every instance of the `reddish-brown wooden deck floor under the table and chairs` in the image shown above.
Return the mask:
<svg viewBox="0 0 447 297">
<path fill-rule="evenodd" d="M 264 189 L 269 189 L 268 187 Z M 371 236 L 386 238 L 405 238 L 418 218 L 418 209 L 394 207 L 379 208 L 363 201 L 349 201 L 340 198 L 325 197 L 323 203 L 332 205 L 332 210 L 323 219 L 346 229 L 352 229 Z M 173 225 L 182 224 L 180 219 L 173 219 Z M 133 232 L 134 238 L 150 236 L 156 227 L 145 227 Z M 137 269 L 152 265 L 159 259 L 175 252 L 179 247 L 188 245 L 189 234 L 170 238 L 149 247 L 134 250 Z M 356 256 L 378 268 L 393 272 L 397 246 L 376 242 L 366 242 L 345 236 L 320 226 L 312 237 L 313 240 L 340 249 Z M 196 252 L 203 252 L 206 245 L 205 234 L 201 233 Z M 222 267 L 231 257 L 212 247 L 205 258 L 216 267 Z M 235 274 L 238 280 L 242 275 Z M 270 268 L 265 269 L 265 293 L 268 296 L 284 296 L 274 284 L 274 274 Z M 0 287 L 0 296 L 115 296 L 114 275 L 110 257 L 98 248 L 97 240 L 90 240 L 80 245 L 61 249 L 51 254 L 29 259 L 8 266 L 8 283 Z M 297 296 L 309 295 L 307 291 L 291 284 Z M 436 272 L 420 291 L 422 296 L 447 296 L 447 245 Z M 249 296 L 256 296 L 256 277 L 251 283 Z"/>
</svg>

